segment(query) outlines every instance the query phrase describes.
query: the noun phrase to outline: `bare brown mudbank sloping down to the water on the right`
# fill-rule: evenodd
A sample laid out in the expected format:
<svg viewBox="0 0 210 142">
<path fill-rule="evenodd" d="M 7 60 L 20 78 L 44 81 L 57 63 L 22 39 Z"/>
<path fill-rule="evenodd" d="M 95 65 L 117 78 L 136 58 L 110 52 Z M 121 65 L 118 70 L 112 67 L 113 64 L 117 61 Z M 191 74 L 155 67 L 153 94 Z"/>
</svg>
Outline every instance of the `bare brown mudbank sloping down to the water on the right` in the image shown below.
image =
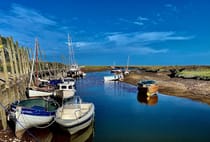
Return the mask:
<svg viewBox="0 0 210 142">
<path fill-rule="evenodd" d="M 125 76 L 124 82 L 137 85 L 140 79 L 156 80 L 162 94 L 186 97 L 210 105 L 210 81 L 170 77 L 170 72 L 132 71 Z"/>
</svg>

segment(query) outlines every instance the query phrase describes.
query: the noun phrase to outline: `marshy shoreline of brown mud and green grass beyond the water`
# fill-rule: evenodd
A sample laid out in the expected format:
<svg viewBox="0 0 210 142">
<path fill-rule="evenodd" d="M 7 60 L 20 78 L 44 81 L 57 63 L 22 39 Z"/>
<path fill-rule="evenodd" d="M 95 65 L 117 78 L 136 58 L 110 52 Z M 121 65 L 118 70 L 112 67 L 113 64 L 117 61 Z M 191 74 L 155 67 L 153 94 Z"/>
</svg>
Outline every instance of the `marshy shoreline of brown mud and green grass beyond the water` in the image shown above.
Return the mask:
<svg viewBox="0 0 210 142">
<path fill-rule="evenodd" d="M 190 98 L 210 105 L 210 66 L 132 66 L 124 82 L 137 85 L 140 79 L 156 80 L 159 92 Z M 86 67 L 88 72 L 109 70 L 108 66 Z"/>
</svg>

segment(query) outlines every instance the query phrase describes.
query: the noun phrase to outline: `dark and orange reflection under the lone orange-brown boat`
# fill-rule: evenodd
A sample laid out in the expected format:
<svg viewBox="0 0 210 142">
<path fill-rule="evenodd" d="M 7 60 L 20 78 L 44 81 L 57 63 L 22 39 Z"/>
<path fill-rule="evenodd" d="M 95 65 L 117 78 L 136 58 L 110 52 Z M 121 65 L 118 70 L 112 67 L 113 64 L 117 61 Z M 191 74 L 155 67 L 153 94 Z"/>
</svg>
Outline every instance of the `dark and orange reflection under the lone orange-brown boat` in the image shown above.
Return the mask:
<svg viewBox="0 0 210 142">
<path fill-rule="evenodd" d="M 139 103 L 147 105 L 156 105 L 158 102 L 158 95 L 154 94 L 152 96 L 147 96 L 145 92 L 139 91 L 137 94 L 137 100 Z"/>
</svg>

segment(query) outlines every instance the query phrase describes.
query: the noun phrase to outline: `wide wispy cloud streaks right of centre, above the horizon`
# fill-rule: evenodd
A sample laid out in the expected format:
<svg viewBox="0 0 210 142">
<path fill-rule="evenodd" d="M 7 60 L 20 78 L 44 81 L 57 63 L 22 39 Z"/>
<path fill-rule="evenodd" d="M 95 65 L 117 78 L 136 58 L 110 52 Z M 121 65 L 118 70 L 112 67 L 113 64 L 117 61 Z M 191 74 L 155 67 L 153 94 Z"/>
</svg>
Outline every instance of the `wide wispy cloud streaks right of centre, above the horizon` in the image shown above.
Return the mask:
<svg viewBox="0 0 210 142">
<path fill-rule="evenodd" d="M 134 33 L 112 33 L 107 35 L 107 41 L 112 47 L 120 47 L 119 50 L 135 52 L 138 54 L 167 53 L 167 48 L 155 48 L 156 43 L 166 41 L 190 40 L 194 36 L 181 36 L 176 32 L 134 32 Z M 129 49 L 129 51 L 127 50 Z"/>
</svg>

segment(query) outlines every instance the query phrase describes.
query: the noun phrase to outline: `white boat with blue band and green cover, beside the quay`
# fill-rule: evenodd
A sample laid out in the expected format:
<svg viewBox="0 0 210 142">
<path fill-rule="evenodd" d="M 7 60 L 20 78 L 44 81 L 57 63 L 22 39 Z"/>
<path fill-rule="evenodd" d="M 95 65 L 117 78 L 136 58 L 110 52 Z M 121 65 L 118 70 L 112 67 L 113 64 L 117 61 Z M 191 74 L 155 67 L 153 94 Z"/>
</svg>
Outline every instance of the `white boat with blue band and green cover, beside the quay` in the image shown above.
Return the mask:
<svg viewBox="0 0 210 142">
<path fill-rule="evenodd" d="M 54 100 L 43 98 L 15 101 L 9 111 L 9 118 L 15 122 L 15 135 L 20 138 L 28 128 L 50 124 L 58 107 Z"/>
</svg>

